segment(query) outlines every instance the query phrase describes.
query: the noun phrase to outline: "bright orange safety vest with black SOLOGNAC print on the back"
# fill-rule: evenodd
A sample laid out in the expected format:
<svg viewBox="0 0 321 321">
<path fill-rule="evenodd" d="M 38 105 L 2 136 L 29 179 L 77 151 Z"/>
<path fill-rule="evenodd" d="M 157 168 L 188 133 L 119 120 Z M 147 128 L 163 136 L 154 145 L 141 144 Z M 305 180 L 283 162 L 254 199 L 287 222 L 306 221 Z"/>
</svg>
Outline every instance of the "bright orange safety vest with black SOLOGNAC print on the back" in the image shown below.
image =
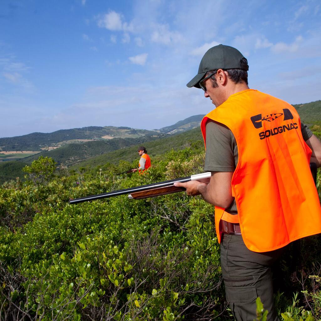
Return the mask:
<svg viewBox="0 0 321 321">
<path fill-rule="evenodd" d="M 302 137 L 295 108 L 249 89 L 231 95 L 203 118 L 204 142 L 208 119 L 224 124 L 235 136 L 239 161 L 231 187 L 247 248 L 271 251 L 320 233 L 321 207 L 309 167 L 311 149 Z M 223 214 L 228 216 L 215 207 L 219 242 Z"/>
</svg>

